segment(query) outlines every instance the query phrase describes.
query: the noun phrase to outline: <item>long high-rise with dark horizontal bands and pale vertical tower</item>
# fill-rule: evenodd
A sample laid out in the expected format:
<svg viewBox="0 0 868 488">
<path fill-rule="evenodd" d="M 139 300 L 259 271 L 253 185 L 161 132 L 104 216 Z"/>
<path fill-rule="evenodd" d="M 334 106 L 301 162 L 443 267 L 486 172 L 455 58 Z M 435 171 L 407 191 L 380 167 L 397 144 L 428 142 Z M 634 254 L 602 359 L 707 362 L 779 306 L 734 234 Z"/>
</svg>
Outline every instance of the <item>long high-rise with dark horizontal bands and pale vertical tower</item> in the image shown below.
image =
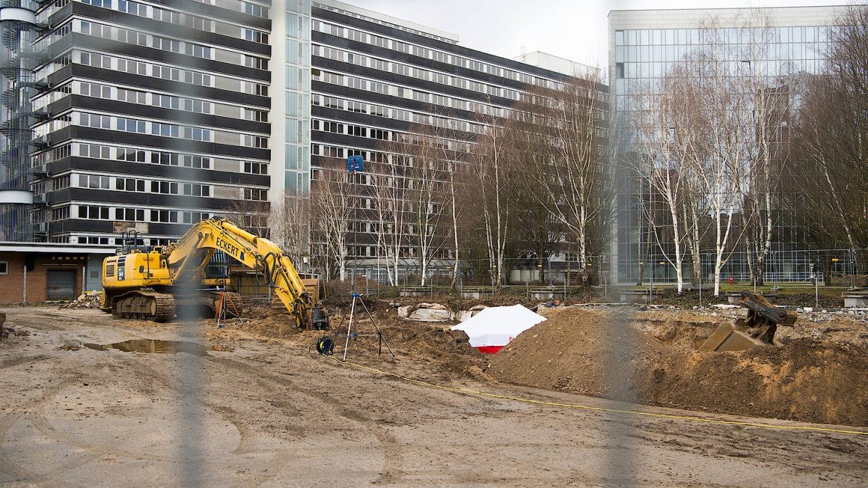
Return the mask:
<svg viewBox="0 0 868 488">
<path fill-rule="evenodd" d="M 478 132 L 475 112 L 593 69 L 330 0 L 57 0 L 4 7 L 3 29 L 0 240 L 165 243 L 305 196 L 324 158 L 382 161 L 446 118 Z"/>
</svg>

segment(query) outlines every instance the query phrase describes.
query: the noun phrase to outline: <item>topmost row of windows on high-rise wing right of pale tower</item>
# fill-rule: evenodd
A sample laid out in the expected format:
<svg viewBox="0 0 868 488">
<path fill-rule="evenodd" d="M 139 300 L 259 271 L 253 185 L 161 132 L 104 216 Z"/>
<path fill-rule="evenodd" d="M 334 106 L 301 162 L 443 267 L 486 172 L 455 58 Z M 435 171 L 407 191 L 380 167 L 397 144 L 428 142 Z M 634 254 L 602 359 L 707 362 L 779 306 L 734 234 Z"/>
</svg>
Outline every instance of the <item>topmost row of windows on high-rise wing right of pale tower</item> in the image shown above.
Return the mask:
<svg viewBox="0 0 868 488">
<path fill-rule="evenodd" d="M 410 44 L 407 42 L 378 36 L 376 34 L 370 34 L 358 29 L 352 29 L 319 20 L 313 20 L 312 24 L 312 30 L 323 32 L 325 34 L 331 34 L 332 36 L 345 37 L 353 41 L 365 42 L 385 49 L 393 49 L 404 54 L 416 55 L 426 59 L 444 62 L 447 64 L 452 64 L 454 66 L 460 66 L 462 68 L 473 69 L 475 71 L 479 71 L 481 73 L 486 73 L 489 75 L 501 76 L 510 80 L 521 81 L 525 84 L 556 88 L 555 81 L 546 80 L 545 78 L 540 78 L 535 75 L 519 72 L 514 69 L 503 68 L 494 64 L 480 62 L 464 56 L 453 55 L 444 51 L 439 51 L 437 49 L 426 48 L 423 46 L 418 46 L 416 44 Z M 395 57 L 397 58 L 398 56 Z"/>
</svg>

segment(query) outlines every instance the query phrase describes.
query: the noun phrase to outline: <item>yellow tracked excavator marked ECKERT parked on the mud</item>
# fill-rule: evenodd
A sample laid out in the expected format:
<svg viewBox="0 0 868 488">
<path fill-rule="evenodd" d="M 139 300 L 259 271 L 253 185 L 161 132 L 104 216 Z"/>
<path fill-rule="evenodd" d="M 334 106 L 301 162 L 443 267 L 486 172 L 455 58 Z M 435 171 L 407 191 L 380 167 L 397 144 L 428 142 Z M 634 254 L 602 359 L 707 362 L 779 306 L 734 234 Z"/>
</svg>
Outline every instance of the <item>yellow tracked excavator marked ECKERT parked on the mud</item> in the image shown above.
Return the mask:
<svg viewBox="0 0 868 488">
<path fill-rule="evenodd" d="M 182 306 L 207 308 L 215 314 L 227 307 L 240 315 L 240 295 L 215 288 L 225 287 L 227 278 L 206 273 L 214 252 L 223 251 L 264 277 L 299 329 L 327 328 L 317 281 L 302 280 L 277 244 L 228 219 L 201 220 L 165 247 L 148 249 L 139 244 L 141 237 L 124 237 L 125 246 L 102 263 L 101 309 L 117 318 L 168 322 Z"/>
</svg>

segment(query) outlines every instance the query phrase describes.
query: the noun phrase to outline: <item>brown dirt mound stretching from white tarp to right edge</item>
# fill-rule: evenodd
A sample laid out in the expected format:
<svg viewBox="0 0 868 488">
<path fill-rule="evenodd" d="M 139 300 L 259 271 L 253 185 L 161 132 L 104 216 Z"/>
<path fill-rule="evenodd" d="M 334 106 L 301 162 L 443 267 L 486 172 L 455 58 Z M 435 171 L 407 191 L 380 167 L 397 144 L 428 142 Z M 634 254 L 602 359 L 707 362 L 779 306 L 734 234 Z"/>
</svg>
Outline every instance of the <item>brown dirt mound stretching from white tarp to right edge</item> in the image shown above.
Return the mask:
<svg viewBox="0 0 868 488">
<path fill-rule="evenodd" d="M 629 400 L 664 407 L 868 425 L 865 348 L 782 337 L 783 348 L 699 353 L 688 349 L 716 327 L 708 317 L 696 317 L 694 331 L 683 315 L 635 319 L 564 311 L 516 337 L 487 371 L 533 387 L 619 398 L 626 392 Z"/>
</svg>

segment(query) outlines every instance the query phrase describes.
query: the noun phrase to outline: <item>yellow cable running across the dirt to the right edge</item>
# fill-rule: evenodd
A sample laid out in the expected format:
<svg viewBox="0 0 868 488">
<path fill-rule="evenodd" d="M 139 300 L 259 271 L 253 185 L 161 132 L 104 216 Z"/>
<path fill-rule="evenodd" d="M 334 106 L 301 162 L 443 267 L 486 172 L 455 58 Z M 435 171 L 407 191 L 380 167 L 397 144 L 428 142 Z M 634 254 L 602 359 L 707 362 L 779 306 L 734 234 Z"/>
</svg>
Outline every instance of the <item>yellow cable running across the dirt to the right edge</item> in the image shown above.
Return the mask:
<svg viewBox="0 0 868 488">
<path fill-rule="evenodd" d="M 803 431 L 814 431 L 814 432 L 827 432 L 827 433 L 846 433 L 853 435 L 868 435 L 868 432 L 864 431 L 848 431 L 844 429 L 830 429 L 826 427 L 811 427 L 811 426 L 774 426 L 772 424 L 760 424 L 757 422 L 738 422 L 735 420 L 715 420 L 715 419 L 701 419 L 700 417 L 688 417 L 687 415 L 671 415 L 668 413 L 648 413 L 648 412 L 636 412 L 635 410 L 619 410 L 617 408 L 605 408 L 605 407 L 589 407 L 587 405 L 575 405 L 570 403 L 555 403 L 552 401 L 542 401 L 542 400 L 529 400 L 526 398 L 518 398 L 515 396 L 501 395 L 501 394 L 489 394 L 485 392 L 480 392 L 477 390 L 470 390 L 467 388 L 456 388 L 456 387 L 443 387 L 440 385 L 435 385 L 434 383 L 429 383 L 427 381 L 414 380 L 412 378 L 407 378 L 406 376 L 401 376 L 400 374 L 390 373 L 388 371 L 383 371 L 377 368 L 371 368 L 369 366 L 362 366 L 360 364 L 356 364 L 350 361 L 340 361 L 338 358 L 334 356 L 327 356 L 332 358 L 334 361 L 338 361 L 341 364 L 348 364 L 355 368 L 366 369 L 368 371 L 372 371 L 374 373 L 385 374 L 387 376 L 393 376 L 395 378 L 410 381 L 411 383 L 417 383 L 418 385 L 424 385 L 426 387 L 437 388 L 440 390 L 446 390 L 450 392 L 459 392 L 464 394 L 477 394 L 482 396 L 487 396 L 490 398 L 499 398 L 502 400 L 516 400 L 523 401 L 524 403 L 533 403 L 536 405 L 548 405 L 549 407 L 569 407 L 569 408 L 581 408 L 583 410 L 595 410 L 598 412 L 608 412 L 608 413 L 629 413 L 632 415 L 644 415 L 646 417 L 657 417 L 661 419 L 678 419 L 678 420 L 694 420 L 696 422 L 707 422 L 710 424 L 727 424 L 730 426 L 753 426 L 753 427 L 761 427 L 766 429 L 790 429 L 790 430 L 803 430 Z"/>
</svg>

